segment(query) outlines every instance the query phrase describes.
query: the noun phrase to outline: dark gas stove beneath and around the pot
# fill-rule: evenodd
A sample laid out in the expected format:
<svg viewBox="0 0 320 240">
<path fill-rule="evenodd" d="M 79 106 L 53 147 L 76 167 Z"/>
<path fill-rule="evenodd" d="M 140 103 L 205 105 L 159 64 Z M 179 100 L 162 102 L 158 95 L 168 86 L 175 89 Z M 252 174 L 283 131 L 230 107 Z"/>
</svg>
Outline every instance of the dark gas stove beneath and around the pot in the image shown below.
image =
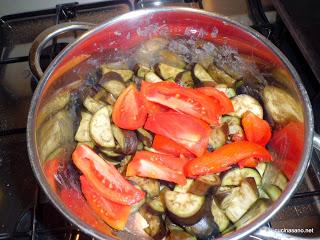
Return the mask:
<svg viewBox="0 0 320 240">
<path fill-rule="evenodd" d="M 300 50 L 301 45 L 297 44 L 299 37 L 294 36 L 289 27 L 290 21 L 288 18 L 285 21 L 280 18 L 285 6 L 275 3 L 274 9 L 269 1 L 262 2 L 263 4 L 259 0 L 69 2 L 55 8 L 35 8 L 37 11 L 17 11 L 0 16 L 0 239 L 91 239 L 71 225 L 51 205 L 37 185 L 29 164 L 26 122 L 30 100 L 38 80 L 30 71 L 28 53 L 38 34 L 58 23 L 83 21 L 98 24 L 138 8 L 163 5 L 203 8 L 227 15 L 269 38 L 293 63 L 313 105 L 319 106 L 320 81 L 309 59 L 305 57 L 305 52 Z M 47 44 L 41 54 L 42 69 L 79 34 L 81 33 L 66 34 Z M 319 109 L 314 108 L 314 111 L 318 120 L 316 122 L 320 123 Z M 319 125 L 316 125 L 316 129 L 319 130 Z M 292 234 L 320 237 L 319 216 L 320 154 L 314 152 L 297 193 L 272 218 L 268 226 L 289 230 L 313 229 Z"/>
</svg>

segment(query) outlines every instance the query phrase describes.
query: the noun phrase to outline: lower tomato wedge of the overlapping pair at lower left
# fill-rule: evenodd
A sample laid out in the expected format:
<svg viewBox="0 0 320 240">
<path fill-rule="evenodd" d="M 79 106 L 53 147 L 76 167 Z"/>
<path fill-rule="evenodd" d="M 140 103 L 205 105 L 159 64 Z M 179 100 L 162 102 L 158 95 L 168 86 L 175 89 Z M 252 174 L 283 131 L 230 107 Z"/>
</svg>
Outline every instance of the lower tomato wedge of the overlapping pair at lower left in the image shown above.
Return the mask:
<svg viewBox="0 0 320 240">
<path fill-rule="evenodd" d="M 130 206 L 112 202 L 101 196 L 85 176 L 80 176 L 81 190 L 89 206 L 109 226 L 123 230 L 129 218 Z"/>
</svg>

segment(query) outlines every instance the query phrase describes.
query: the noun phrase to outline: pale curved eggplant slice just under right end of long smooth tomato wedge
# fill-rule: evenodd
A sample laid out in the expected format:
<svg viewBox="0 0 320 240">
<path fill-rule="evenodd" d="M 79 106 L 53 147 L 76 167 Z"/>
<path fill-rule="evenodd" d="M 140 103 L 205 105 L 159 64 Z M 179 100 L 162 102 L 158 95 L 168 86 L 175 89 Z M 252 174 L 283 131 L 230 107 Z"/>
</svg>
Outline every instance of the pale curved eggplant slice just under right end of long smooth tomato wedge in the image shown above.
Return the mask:
<svg viewBox="0 0 320 240">
<path fill-rule="evenodd" d="M 261 184 L 261 176 L 254 168 L 233 168 L 222 176 L 221 186 L 239 186 L 245 178 L 254 178 L 256 185 Z"/>
</svg>

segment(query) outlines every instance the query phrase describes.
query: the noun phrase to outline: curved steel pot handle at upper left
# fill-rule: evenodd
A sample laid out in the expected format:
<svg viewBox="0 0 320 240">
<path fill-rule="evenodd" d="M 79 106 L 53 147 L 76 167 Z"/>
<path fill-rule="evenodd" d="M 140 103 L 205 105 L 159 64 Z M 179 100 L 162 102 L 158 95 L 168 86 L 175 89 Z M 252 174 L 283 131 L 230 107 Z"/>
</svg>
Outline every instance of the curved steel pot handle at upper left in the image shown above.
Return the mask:
<svg viewBox="0 0 320 240">
<path fill-rule="evenodd" d="M 40 80 L 43 71 L 40 67 L 40 54 L 44 46 L 52 39 L 60 34 L 76 31 L 76 30 L 90 30 L 96 25 L 86 22 L 66 22 L 54 25 L 41 32 L 33 41 L 29 51 L 29 66 L 33 75 Z"/>
</svg>

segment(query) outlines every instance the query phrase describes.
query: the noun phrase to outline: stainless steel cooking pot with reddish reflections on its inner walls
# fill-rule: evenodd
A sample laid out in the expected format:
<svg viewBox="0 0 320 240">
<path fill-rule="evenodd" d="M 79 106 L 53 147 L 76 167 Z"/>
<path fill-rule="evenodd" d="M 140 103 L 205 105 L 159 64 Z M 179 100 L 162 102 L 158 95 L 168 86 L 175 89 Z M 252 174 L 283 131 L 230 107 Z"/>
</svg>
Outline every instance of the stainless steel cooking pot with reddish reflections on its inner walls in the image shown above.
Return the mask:
<svg viewBox="0 0 320 240">
<path fill-rule="evenodd" d="M 92 26 L 68 23 L 60 27 L 55 27 L 53 32 L 51 29 L 50 34 L 55 36 L 64 32 L 66 28 L 86 30 Z M 37 61 L 34 60 L 39 59 L 39 46 L 43 46 L 48 40 L 47 35 L 48 33 L 43 33 L 39 36 L 30 54 L 31 67 L 38 72 L 39 76 L 42 73 Z M 308 95 L 293 66 L 270 41 L 251 28 L 205 11 L 158 8 L 130 12 L 94 27 L 68 45 L 53 60 L 34 93 L 28 116 L 29 157 L 42 189 L 56 208 L 83 232 L 98 239 L 111 239 L 110 236 L 98 230 L 97 224 L 93 226 L 92 221 L 81 216 L 81 211 L 77 210 L 88 208 L 79 190 L 77 172 L 70 164 L 70 153 L 75 146 L 73 136 L 76 111 L 73 106 L 77 102 L 74 101 L 74 93 L 76 89 L 83 88 L 84 82 L 88 84 L 84 78 L 102 62 L 128 57 L 126 55 L 128 49 L 154 36 L 193 37 L 218 45 L 230 45 L 237 48 L 240 53 L 263 59 L 273 66 L 273 69 L 281 70 L 280 74 L 278 71 L 278 74 L 273 76 L 272 84 L 285 88 L 302 109 L 301 154 L 296 156 L 294 163 L 281 157 L 278 159 L 280 167 L 290 165 L 292 170 L 290 182 L 281 197 L 258 219 L 224 236 L 224 239 L 240 239 L 254 232 L 256 236 L 264 239 L 288 239 L 289 236 L 263 226 L 288 202 L 297 189 L 309 165 L 312 146 L 320 149 L 320 138 L 314 134 L 313 115 Z M 64 110 L 66 108 L 68 111 Z M 286 152 L 290 151 L 288 146 L 281 149 L 280 151 L 283 152 L 279 152 L 278 156 L 286 155 Z M 50 167 L 46 166 L 46 160 L 50 158 L 60 158 L 63 162 L 54 175 L 50 172 Z M 77 201 L 70 203 L 68 197 L 67 200 L 61 198 L 63 189 L 72 189 L 72 192 L 69 191 L 69 197 Z M 72 196 L 70 196 L 71 193 Z M 136 218 L 130 219 L 128 231 L 117 235 L 122 239 L 148 239 L 139 228 L 139 219 Z"/>
</svg>

